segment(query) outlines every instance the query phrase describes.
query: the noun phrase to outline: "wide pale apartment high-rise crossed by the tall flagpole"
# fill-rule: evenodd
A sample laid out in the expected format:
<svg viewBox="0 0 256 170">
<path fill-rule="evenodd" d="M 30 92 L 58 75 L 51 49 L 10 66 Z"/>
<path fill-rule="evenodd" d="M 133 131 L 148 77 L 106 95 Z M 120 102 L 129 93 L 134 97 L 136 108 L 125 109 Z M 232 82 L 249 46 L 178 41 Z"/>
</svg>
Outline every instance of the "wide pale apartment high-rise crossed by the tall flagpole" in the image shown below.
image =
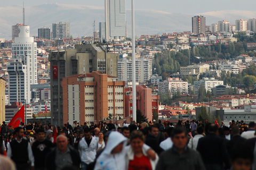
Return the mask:
<svg viewBox="0 0 256 170">
<path fill-rule="evenodd" d="M 152 76 L 151 58 L 137 58 L 135 71 L 136 82 L 149 81 Z M 119 81 L 132 81 L 132 60 L 123 58 L 117 62 L 117 77 Z"/>
</svg>

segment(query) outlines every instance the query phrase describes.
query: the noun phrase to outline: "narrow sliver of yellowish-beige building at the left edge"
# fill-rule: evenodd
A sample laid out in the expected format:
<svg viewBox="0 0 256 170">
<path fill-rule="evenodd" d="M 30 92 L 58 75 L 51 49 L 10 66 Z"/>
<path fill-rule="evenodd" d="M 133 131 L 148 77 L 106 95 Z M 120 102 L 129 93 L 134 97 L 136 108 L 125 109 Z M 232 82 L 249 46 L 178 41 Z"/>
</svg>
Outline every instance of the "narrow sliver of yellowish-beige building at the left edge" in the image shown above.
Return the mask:
<svg viewBox="0 0 256 170">
<path fill-rule="evenodd" d="M 0 122 L 5 121 L 5 79 L 0 78 Z"/>
</svg>

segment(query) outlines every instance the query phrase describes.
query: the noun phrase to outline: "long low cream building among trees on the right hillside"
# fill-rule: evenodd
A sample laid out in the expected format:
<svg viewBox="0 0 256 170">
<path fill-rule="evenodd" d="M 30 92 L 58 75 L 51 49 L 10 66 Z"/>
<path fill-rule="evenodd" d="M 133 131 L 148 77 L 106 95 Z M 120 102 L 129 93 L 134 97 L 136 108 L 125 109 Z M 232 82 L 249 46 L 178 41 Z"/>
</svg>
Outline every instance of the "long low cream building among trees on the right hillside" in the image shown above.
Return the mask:
<svg viewBox="0 0 256 170">
<path fill-rule="evenodd" d="M 210 65 L 204 64 L 204 65 L 188 65 L 185 67 L 180 67 L 180 74 L 201 74 L 205 71 L 209 70 Z"/>
</svg>

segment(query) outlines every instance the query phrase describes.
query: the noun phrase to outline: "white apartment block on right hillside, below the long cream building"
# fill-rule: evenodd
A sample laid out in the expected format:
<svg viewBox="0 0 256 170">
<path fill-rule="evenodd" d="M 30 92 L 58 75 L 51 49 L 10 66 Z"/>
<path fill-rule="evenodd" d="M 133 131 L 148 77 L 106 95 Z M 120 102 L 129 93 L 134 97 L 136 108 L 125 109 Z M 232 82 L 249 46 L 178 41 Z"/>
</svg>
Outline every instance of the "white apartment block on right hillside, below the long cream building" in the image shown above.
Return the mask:
<svg viewBox="0 0 256 170">
<path fill-rule="evenodd" d="M 216 86 L 223 85 L 223 81 L 215 80 L 214 78 L 203 78 L 202 80 L 194 81 L 195 95 L 198 95 L 201 84 L 207 92 Z"/>
</svg>

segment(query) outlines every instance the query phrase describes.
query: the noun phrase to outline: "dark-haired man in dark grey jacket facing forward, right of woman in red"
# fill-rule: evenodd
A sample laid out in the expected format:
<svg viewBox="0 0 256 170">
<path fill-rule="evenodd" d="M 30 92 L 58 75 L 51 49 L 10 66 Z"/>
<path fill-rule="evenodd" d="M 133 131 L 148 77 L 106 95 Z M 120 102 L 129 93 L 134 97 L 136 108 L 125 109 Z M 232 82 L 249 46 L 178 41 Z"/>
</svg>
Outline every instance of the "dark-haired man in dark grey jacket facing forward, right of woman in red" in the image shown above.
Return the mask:
<svg viewBox="0 0 256 170">
<path fill-rule="evenodd" d="M 161 154 L 156 165 L 156 170 L 205 170 L 200 154 L 187 147 L 188 134 L 186 129 L 173 129 L 171 139 L 173 147 Z"/>
</svg>

